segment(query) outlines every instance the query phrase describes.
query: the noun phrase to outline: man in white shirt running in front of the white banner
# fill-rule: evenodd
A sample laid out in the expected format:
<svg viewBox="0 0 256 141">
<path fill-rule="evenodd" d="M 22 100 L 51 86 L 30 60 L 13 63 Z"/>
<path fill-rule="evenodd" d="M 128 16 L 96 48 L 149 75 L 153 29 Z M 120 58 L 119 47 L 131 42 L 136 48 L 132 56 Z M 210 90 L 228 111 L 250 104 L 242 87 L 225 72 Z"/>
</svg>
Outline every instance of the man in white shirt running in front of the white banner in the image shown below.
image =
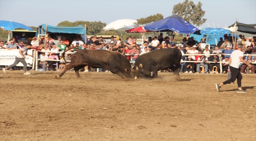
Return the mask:
<svg viewBox="0 0 256 141">
<path fill-rule="evenodd" d="M 32 55 L 27 54 L 28 49 L 30 49 L 31 46 L 32 46 L 31 43 L 27 43 L 27 45 L 25 47 L 22 47 L 19 50 L 19 53 L 15 57 L 14 63 L 12 65 L 9 65 L 7 68 L 3 68 L 3 71 L 5 74 L 6 74 L 7 69 L 9 69 L 11 67 L 15 67 L 19 62 L 21 62 L 24 66 L 24 74 L 25 75 L 30 74 L 30 72 L 27 72 L 27 62 L 25 61 L 24 58 L 25 58 L 25 55 L 33 57 Z"/>
</svg>

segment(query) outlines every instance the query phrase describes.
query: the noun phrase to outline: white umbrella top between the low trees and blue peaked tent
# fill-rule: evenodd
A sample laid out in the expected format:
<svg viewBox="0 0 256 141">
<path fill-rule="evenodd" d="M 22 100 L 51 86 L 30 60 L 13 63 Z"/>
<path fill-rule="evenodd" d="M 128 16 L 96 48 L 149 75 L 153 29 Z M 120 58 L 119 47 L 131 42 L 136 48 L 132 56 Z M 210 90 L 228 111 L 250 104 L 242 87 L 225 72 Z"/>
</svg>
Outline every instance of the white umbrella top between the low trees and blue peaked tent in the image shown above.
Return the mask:
<svg viewBox="0 0 256 141">
<path fill-rule="evenodd" d="M 109 31 L 109 30 L 112 30 L 112 29 L 120 29 L 124 26 L 131 26 L 136 22 L 137 22 L 137 20 L 130 20 L 130 19 L 117 20 L 117 21 L 111 22 L 110 24 L 108 24 L 103 29 L 105 31 Z"/>
</svg>

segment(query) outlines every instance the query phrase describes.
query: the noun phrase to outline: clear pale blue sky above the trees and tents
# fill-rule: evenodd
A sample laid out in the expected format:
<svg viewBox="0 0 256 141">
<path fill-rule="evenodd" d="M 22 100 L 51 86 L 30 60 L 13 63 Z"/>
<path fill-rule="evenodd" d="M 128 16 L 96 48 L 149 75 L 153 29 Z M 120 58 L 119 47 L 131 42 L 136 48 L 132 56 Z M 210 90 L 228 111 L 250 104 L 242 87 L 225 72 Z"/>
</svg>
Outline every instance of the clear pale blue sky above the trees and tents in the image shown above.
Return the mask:
<svg viewBox="0 0 256 141">
<path fill-rule="evenodd" d="M 109 24 L 118 19 L 144 18 L 160 13 L 171 16 L 173 5 L 184 0 L 0 0 L 0 20 L 11 20 L 28 26 L 101 21 Z M 193 0 L 197 4 L 198 0 Z M 228 27 L 237 21 L 256 24 L 256 0 L 200 0 L 207 21 L 201 28 Z"/>
</svg>

